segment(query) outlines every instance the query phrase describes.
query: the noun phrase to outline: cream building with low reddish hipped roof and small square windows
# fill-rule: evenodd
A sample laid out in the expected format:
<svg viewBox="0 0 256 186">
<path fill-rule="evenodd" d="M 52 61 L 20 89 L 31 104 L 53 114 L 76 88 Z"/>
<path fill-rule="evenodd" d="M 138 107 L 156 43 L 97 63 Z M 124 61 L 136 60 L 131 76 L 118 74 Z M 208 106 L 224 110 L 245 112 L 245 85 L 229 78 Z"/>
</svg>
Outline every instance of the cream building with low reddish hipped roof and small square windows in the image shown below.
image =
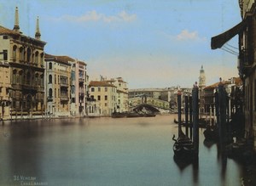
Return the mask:
<svg viewBox="0 0 256 186">
<path fill-rule="evenodd" d="M 99 116 L 111 116 L 114 111 L 117 111 L 117 87 L 104 80 L 91 81 L 89 83 L 89 90 L 90 100 L 97 103 L 93 109 Z"/>
</svg>

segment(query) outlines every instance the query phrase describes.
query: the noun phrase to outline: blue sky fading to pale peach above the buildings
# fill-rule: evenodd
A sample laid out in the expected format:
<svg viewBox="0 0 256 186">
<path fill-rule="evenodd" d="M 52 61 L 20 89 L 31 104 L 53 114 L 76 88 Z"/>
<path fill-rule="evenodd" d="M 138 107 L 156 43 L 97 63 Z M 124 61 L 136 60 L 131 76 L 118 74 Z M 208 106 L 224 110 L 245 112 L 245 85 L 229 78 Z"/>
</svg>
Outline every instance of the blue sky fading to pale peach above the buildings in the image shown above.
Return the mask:
<svg viewBox="0 0 256 186">
<path fill-rule="evenodd" d="M 237 37 L 211 49 L 211 37 L 241 21 L 234 0 L 0 0 L 0 25 L 34 37 L 44 52 L 84 60 L 90 80 L 123 77 L 129 88 L 193 87 L 238 76 Z"/>
</svg>

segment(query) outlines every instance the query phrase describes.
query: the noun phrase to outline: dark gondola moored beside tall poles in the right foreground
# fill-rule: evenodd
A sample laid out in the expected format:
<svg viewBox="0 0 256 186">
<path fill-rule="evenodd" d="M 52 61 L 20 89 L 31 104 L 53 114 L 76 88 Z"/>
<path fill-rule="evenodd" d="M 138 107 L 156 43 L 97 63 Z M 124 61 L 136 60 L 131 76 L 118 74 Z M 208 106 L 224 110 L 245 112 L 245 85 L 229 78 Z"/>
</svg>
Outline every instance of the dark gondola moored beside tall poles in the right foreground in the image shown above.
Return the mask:
<svg viewBox="0 0 256 186">
<path fill-rule="evenodd" d="M 180 132 L 177 139 L 173 135 L 172 140 L 175 141 L 173 144 L 174 155 L 177 155 L 177 157 L 193 157 L 194 144 L 183 132 Z"/>
</svg>

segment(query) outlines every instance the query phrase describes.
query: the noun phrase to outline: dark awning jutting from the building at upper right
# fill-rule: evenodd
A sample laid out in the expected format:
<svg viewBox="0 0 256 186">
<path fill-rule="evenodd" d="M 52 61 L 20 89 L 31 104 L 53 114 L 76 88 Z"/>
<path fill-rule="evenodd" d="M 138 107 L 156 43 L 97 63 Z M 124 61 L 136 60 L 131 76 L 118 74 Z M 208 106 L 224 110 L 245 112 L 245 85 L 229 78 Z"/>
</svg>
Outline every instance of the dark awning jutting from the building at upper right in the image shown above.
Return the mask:
<svg viewBox="0 0 256 186">
<path fill-rule="evenodd" d="M 228 42 L 232 37 L 235 37 L 236 34 L 239 34 L 241 31 L 247 27 L 247 19 L 242 20 L 241 23 L 235 25 L 229 31 L 225 31 L 222 34 L 219 34 L 216 37 L 212 37 L 211 48 L 217 49 L 221 48 L 225 42 Z"/>
</svg>

